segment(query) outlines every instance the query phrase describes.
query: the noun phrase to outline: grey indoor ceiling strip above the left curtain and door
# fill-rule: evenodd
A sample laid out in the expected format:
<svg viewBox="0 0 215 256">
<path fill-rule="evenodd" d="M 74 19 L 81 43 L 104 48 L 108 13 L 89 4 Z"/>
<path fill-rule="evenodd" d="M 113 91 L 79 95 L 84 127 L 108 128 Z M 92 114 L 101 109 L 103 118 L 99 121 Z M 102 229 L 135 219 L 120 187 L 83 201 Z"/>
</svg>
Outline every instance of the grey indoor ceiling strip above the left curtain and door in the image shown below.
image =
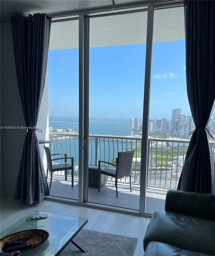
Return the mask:
<svg viewBox="0 0 215 256">
<path fill-rule="evenodd" d="M 155 0 L 151 0 L 153 2 Z M 160 0 L 157 0 L 158 2 Z M 115 6 L 140 4 L 148 0 L 115 0 Z M 9 20 L 13 15 L 28 16 L 36 12 L 49 16 L 76 13 L 102 8 L 111 8 L 112 0 L 0 0 L 1 21 Z"/>
</svg>

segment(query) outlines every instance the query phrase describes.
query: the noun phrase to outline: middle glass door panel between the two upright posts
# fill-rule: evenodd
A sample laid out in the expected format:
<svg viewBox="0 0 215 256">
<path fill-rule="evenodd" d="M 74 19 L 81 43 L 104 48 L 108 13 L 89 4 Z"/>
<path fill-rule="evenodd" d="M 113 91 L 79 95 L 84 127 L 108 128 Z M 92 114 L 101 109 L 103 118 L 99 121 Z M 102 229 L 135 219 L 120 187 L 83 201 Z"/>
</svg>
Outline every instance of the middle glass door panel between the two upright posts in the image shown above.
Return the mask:
<svg viewBox="0 0 215 256">
<path fill-rule="evenodd" d="M 139 209 L 146 24 L 147 10 L 89 20 L 88 202 Z M 98 160 L 116 164 L 132 149 L 132 192 L 121 178 L 117 198 L 115 178 L 103 174 L 98 192 Z"/>
</svg>

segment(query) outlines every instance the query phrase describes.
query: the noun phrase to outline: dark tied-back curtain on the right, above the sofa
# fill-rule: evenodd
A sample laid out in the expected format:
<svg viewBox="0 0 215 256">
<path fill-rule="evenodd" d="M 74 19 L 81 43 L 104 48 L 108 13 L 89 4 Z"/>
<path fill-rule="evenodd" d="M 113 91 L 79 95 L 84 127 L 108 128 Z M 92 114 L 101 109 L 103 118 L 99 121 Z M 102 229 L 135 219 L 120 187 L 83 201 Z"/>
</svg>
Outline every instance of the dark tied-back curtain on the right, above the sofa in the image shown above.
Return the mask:
<svg viewBox="0 0 215 256">
<path fill-rule="evenodd" d="M 178 190 L 211 193 L 205 127 L 215 99 L 215 1 L 184 1 L 187 94 L 196 129 L 187 149 Z"/>
</svg>

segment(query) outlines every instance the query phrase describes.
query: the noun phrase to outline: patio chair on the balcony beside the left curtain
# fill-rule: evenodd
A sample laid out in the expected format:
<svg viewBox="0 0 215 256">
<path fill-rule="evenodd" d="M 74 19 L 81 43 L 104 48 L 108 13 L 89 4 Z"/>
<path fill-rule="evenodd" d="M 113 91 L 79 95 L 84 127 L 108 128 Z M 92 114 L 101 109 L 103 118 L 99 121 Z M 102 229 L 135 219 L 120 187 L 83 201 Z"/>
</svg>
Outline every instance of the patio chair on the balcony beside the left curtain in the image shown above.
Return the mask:
<svg viewBox="0 0 215 256">
<path fill-rule="evenodd" d="M 46 153 L 46 161 L 47 161 L 47 173 L 46 173 L 46 179 L 48 178 L 48 171 L 51 173 L 51 179 L 50 179 L 50 185 L 49 189 L 51 189 L 51 181 L 52 181 L 52 172 L 57 171 L 65 171 L 65 180 L 67 180 L 67 170 L 72 170 L 72 187 L 74 186 L 74 158 L 73 157 L 67 157 L 67 153 L 57 153 L 57 154 L 50 154 L 50 150 L 48 147 L 43 145 Z M 55 158 L 52 159 L 52 155 L 61 155 L 63 154 L 63 158 Z M 52 164 L 52 161 L 54 160 L 64 160 L 63 164 Z M 71 164 L 67 163 L 67 159 L 71 159 Z"/>
</svg>

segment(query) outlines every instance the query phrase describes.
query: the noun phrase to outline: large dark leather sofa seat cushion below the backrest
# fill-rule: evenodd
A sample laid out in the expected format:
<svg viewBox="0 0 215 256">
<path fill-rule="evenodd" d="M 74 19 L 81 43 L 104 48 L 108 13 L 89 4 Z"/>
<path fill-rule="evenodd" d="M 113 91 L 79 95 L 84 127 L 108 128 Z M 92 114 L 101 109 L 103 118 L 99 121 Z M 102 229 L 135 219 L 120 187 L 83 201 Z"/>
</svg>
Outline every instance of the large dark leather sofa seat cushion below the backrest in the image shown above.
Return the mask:
<svg viewBox="0 0 215 256">
<path fill-rule="evenodd" d="M 144 250 L 150 241 L 215 255 L 215 221 L 155 211 L 144 236 Z"/>
</svg>

